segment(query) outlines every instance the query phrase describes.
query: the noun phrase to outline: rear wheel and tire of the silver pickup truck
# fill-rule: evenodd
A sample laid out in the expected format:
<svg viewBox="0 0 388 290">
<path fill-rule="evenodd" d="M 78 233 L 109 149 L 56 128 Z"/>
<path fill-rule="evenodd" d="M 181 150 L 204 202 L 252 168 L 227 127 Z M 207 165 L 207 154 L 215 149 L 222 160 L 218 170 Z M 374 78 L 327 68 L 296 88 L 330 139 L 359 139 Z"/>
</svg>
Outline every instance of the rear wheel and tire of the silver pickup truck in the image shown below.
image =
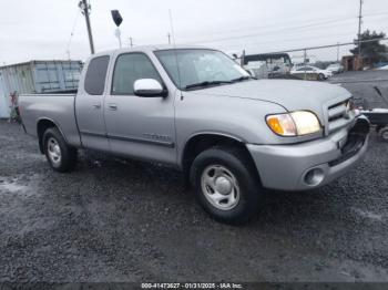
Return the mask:
<svg viewBox="0 0 388 290">
<path fill-rule="evenodd" d="M 71 172 L 76 164 L 76 149 L 70 147 L 58 128 L 48 128 L 43 134 L 43 148 L 51 168 L 59 173 Z"/>
</svg>

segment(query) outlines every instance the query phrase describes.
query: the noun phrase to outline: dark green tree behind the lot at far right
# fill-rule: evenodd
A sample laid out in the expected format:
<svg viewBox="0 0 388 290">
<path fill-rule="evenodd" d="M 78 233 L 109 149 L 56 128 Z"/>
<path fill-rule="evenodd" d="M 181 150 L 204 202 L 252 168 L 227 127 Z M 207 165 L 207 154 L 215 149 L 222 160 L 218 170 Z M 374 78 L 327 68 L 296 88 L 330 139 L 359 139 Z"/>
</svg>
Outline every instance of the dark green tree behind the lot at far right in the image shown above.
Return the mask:
<svg viewBox="0 0 388 290">
<path fill-rule="evenodd" d="M 372 63 L 379 62 L 379 61 L 386 61 L 387 60 L 387 53 L 388 48 L 385 44 L 380 43 L 380 40 L 386 37 L 386 33 L 380 32 L 377 33 L 376 31 L 370 32 L 369 30 L 366 30 L 361 33 L 361 41 L 364 40 L 375 40 L 370 42 L 361 42 L 361 56 L 370 59 Z M 355 39 L 356 48 L 350 50 L 353 54 L 358 54 L 358 38 Z"/>
</svg>

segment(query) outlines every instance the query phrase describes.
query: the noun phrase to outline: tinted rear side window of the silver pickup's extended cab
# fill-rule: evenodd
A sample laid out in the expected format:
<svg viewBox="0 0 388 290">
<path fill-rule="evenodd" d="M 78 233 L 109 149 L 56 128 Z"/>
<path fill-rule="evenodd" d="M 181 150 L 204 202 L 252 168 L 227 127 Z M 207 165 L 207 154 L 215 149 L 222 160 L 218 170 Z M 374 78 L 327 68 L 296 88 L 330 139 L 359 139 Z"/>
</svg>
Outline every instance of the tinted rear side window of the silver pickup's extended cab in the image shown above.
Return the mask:
<svg viewBox="0 0 388 290">
<path fill-rule="evenodd" d="M 84 84 L 88 94 L 102 95 L 104 93 L 108 64 L 109 55 L 98 56 L 90 61 Z"/>
</svg>

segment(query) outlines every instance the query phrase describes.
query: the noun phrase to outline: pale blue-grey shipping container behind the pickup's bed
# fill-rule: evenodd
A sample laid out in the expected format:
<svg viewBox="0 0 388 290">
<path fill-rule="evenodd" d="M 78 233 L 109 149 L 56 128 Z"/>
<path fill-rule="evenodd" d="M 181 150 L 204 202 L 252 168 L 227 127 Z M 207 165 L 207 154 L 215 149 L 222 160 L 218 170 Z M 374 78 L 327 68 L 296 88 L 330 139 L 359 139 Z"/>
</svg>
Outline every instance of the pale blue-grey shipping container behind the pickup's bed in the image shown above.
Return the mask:
<svg viewBox="0 0 388 290">
<path fill-rule="evenodd" d="M 0 117 L 9 117 L 11 94 L 70 92 L 78 89 L 81 61 L 30 61 L 0 66 Z"/>
</svg>

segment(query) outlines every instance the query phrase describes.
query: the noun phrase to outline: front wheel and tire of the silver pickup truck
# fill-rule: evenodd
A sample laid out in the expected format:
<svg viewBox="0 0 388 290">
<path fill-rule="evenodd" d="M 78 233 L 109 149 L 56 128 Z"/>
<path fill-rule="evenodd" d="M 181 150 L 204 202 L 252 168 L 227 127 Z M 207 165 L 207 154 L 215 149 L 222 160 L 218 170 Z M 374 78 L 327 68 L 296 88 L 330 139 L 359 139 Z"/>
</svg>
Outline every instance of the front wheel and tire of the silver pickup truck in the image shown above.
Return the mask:
<svg viewBox="0 0 388 290">
<path fill-rule="evenodd" d="M 198 203 L 215 220 L 241 225 L 258 211 L 263 188 L 256 167 L 244 152 L 206 149 L 194 159 L 190 177 Z"/>
</svg>

